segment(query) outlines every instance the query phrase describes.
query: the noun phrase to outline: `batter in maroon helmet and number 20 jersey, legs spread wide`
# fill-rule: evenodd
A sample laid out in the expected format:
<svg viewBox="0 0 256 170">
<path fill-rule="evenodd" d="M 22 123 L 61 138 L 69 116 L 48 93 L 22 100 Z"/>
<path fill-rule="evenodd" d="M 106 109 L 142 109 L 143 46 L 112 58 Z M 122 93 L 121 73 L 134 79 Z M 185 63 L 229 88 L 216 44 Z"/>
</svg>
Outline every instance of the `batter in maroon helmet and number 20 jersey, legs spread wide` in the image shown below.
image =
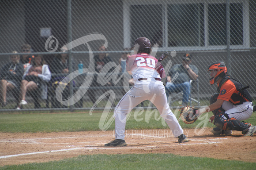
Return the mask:
<svg viewBox="0 0 256 170">
<path fill-rule="evenodd" d="M 132 74 L 134 86 L 119 101 L 114 109 L 115 115 L 115 139 L 105 146 L 126 146 L 124 141 L 126 116 L 132 109 L 145 100 L 150 100 L 158 109 L 162 118 L 165 119 L 174 137 L 178 142 L 188 142 L 183 130 L 173 112 L 167 104 L 165 87 L 162 78 L 165 71 L 160 62 L 150 55 L 151 43 L 146 37 L 135 40 L 132 47 L 134 55 L 128 57 L 126 70 Z"/>
</svg>

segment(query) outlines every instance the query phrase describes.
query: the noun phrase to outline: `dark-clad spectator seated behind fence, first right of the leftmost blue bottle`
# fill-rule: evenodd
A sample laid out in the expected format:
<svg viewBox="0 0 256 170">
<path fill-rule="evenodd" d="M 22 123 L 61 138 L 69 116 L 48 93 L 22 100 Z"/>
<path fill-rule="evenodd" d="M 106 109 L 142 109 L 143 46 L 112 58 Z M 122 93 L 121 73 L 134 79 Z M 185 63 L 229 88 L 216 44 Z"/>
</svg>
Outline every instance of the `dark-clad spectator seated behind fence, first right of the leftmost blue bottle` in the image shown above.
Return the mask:
<svg viewBox="0 0 256 170">
<path fill-rule="evenodd" d="M 101 45 L 99 46 L 98 48 L 98 51 L 106 51 L 106 48 L 105 46 Z M 96 55 L 94 57 L 94 60 L 95 60 L 95 71 L 96 72 L 100 72 L 101 69 L 103 68 L 103 66 L 105 64 L 107 64 L 108 62 L 111 62 L 113 61 L 109 55 L 107 53 L 99 53 L 98 55 Z M 109 72 L 112 71 L 113 69 L 110 69 L 109 68 Z M 94 81 L 91 83 L 91 86 L 99 86 L 99 84 L 96 82 L 96 77 L 94 76 Z M 112 83 L 111 82 L 108 82 L 106 84 L 106 86 L 112 86 Z M 88 93 L 89 93 L 89 97 L 90 97 L 90 100 L 95 103 L 96 101 L 96 98 L 95 98 L 95 94 L 94 94 L 94 90 L 88 90 Z"/>
</svg>

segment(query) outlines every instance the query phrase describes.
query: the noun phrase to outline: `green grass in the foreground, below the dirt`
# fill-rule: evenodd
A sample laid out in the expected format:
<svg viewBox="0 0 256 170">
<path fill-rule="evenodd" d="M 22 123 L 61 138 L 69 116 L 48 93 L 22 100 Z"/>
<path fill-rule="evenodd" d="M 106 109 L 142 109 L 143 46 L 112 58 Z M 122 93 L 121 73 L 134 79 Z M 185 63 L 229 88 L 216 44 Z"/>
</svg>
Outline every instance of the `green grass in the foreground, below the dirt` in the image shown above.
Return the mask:
<svg viewBox="0 0 256 170">
<path fill-rule="evenodd" d="M 0 167 L 2 170 L 253 170 L 256 163 L 173 154 L 84 155 L 48 163 Z"/>
</svg>

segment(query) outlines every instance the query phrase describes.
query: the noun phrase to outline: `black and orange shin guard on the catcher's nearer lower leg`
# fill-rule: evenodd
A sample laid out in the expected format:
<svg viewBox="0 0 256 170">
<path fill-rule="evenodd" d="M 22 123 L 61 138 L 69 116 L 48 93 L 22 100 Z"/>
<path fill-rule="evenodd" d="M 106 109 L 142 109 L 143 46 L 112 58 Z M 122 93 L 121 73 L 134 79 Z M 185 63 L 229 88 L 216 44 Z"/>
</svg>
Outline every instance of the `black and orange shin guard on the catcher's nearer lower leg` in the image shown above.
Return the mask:
<svg viewBox="0 0 256 170">
<path fill-rule="evenodd" d="M 251 126 L 250 123 L 243 123 L 235 118 L 223 119 L 223 114 L 218 115 L 214 119 L 214 124 L 216 127 L 222 130 L 237 130 L 237 131 L 246 131 Z"/>
</svg>

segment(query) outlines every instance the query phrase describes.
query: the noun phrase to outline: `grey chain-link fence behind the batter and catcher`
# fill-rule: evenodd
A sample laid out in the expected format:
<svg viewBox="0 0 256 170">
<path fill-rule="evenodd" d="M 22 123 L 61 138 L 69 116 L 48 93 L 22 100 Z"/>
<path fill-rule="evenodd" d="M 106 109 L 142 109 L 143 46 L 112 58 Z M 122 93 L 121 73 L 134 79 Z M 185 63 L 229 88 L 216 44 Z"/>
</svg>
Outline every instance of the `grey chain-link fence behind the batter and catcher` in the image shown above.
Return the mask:
<svg viewBox="0 0 256 170">
<path fill-rule="evenodd" d="M 113 108 L 132 86 L 124 63 L 141 36 L 159 45 L 156 58 L 173 54 L 164 66 L 192 55 L 190 105 L 217 92 L 206 76 L 215 61 L 249 85 L 256 104 L 255 11 L 254 0 L 1 0 L 0 109 Z M 173 107 L 183 98 L 174 94 Z"/>
</svg>

